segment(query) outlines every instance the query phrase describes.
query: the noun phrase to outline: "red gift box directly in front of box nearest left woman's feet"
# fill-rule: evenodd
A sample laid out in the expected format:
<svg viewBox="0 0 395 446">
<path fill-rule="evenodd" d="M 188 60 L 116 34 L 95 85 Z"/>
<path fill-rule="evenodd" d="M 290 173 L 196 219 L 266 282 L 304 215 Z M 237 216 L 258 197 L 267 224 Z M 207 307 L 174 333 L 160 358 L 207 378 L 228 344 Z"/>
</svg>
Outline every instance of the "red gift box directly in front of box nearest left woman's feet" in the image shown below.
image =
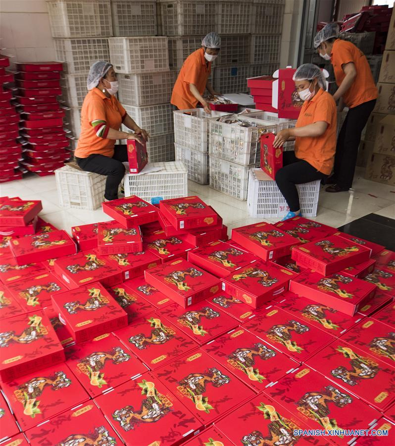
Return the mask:
<svg viewBox="0 0 395 446">
<path fill-rule="evenodd" d="M 123 227 L 118 222 L 98 223 L 98 252 L 100 255 L 143 251 L 139 226 Z"/>
</svg>

